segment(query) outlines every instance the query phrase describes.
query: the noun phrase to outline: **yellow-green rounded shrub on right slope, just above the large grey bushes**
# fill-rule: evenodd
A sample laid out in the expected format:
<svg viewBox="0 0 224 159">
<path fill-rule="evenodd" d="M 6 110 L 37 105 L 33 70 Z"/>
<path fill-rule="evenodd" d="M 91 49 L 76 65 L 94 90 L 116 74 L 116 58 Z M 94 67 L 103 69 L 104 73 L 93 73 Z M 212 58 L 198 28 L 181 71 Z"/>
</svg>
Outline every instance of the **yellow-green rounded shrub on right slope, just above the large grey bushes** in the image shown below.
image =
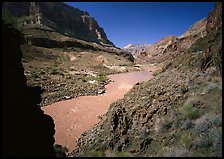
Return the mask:
<svg viewBox="0 0 224 159">
<path fill-rule="evenodd" d="M 198 117 L 198 111 L 192 104 L 184 104 L 179 108 L 179 112 L 187 118 L 194 119 Z"/>
</svg>

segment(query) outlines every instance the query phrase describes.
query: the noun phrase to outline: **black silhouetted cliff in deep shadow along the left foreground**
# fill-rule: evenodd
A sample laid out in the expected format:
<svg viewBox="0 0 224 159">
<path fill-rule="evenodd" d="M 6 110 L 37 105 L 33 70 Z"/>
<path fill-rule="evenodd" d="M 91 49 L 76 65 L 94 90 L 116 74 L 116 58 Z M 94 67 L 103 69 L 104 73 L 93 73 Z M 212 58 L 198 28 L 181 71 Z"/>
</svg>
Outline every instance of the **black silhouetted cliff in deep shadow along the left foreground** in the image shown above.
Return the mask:
<svg viewBox="0 0 224 159">
<path fill-rule="evenodd" d="M 38 104 L 42 90 L 28 87 L 20 33 L 2 21 L 3 156 L 54 156 L 54 121 Z"/>
</svg>

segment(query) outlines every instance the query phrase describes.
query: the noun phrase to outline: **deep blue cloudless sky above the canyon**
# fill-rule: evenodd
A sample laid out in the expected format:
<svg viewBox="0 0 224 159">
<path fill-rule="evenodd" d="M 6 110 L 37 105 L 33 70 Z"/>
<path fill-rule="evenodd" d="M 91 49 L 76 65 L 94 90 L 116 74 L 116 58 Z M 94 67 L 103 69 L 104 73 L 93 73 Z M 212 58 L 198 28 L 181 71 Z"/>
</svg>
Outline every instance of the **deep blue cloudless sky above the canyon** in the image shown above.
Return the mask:
<svg viewBox="0 0 224 159">
<path fill-rule="evenodd" d="M 87 11 L 117 47 L 180 36 L 208 16 L 214 2 L 65 2 Z"/>
</svg>

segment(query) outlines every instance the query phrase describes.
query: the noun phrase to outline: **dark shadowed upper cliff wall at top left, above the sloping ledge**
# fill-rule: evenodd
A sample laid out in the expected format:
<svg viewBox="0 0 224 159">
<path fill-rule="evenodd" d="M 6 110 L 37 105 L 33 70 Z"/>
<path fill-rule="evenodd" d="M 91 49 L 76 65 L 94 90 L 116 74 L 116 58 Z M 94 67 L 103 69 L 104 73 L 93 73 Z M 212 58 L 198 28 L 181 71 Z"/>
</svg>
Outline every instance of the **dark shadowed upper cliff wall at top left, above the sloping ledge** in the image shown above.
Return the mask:
<svg viewBox="0 0 224 159">
<path fill-rule="evenodd" d="M 18 17 L 29 15 L 21 21 L 24 26 L 42 24 L 77 39 L 114 46 L 93 17 L 62 2 L 4 2 L 3 8 Z"/>
</svg>

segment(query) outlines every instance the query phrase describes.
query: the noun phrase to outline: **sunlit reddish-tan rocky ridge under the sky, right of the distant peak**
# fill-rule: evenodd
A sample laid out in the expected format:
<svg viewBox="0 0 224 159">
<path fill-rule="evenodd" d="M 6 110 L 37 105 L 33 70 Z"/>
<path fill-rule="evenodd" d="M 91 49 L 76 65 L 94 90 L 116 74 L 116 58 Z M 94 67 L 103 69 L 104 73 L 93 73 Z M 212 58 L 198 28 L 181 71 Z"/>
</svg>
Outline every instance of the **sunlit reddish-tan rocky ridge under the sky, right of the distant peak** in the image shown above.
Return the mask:
<svg viewBox="0 0 224 159">
<path fill-rule="evenodd" d="M 207 18 L 193 24 L 181 36 L 167 36 L 146 49 L 148 58 L 146 61 L 163 63 L 174 61 L 177 54 L 189 49 L 198 39 L 205 37 Z"/>
</svg>

